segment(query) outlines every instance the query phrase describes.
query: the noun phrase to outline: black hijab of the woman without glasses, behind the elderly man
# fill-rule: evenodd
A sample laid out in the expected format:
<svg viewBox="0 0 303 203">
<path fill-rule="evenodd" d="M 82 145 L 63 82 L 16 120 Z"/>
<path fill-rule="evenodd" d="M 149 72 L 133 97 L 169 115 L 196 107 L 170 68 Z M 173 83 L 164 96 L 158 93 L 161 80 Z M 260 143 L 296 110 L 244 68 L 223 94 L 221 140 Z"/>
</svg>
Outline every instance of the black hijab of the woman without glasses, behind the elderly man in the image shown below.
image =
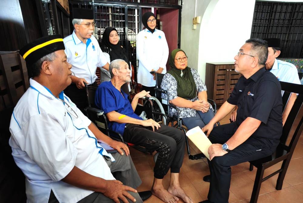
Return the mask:
<svg viewBox="0 0 303 203">
<path fill-rule="evenodd" d="M 115 59 L 123 59 L 128 65 L 130 65 L 127 54 L 120 45 L 120 41 L 116 45 L 113 45 L 112 43 L 109 42 L 109 34 L 113 30 L 115 30 L 118 33 L 118 31 L 113 27 L 107 27 L 105 29 L 105 31 L 103 32 L 100 48 L 102 52 L 106 52 L 109 54 L 111 61 Z"/>
</svg>

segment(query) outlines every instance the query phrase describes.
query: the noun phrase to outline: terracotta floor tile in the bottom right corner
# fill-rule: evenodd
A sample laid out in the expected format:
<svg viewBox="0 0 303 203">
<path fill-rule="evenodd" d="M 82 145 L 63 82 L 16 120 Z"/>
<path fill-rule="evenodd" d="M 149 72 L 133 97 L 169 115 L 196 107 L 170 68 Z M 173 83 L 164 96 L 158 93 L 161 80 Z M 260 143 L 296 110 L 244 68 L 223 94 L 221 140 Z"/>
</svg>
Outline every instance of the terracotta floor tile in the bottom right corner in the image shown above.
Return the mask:
<svg viewBox="0 0 303 203">
<path fill-rule="evenodd" d="M 273 191 L 268 193 L 268 195 L 270 195 L 279 203 L 303 203 L 303 193 L 301 193 L 294 187 L 284 188 L 280 191 Z"/>
</svg>

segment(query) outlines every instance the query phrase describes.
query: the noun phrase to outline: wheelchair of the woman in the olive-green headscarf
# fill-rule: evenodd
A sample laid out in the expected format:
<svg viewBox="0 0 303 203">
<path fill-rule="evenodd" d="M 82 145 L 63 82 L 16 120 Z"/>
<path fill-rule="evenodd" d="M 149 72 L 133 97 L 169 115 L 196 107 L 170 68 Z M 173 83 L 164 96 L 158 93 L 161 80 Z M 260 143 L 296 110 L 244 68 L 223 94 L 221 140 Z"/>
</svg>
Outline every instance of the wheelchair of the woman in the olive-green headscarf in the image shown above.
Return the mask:
<svg viewBox="0 0 303 203">
<path fill-rule="evenodd" d="M 170 104 L 168 100 L 165 100 L 165 99 L 161 98 L 162 94 L 165 94 L 166 98 L 169 98 L 167 91 L 161 88 L 161 83 L 162 83 L 163 77 L 164 77 L 164 74 L 156 73 L 155 95 L 156 95 L 156 98 L 158 98 L 158 101 L 160 100 L 161 103 L 160 104 L 153 103 L 153 106 L 154 106 L 153 109 L 161 109 L 161 113 L 162 114 L 164 113 L 166 115 L 166 117 L 167 117 L 167 120 L 165 121 L 166 125 L 169 125 L 169 123 L 171 123 L 172 127 L 178 128 L 186 134 L 186 129 L 182 125 L 182 119 L 179 117 L 179 111 L 176 108 L 176 106 L 173 105 L 173 104 Z M 217 112 L 217 106 L 216 106 L 215 101 L 213 101 L 211 99 L 207 99 L 207 101 L 213 107 L 214 113 L 216 113 Z M 161 107 L 160 107 L 160 105 L 161 105 Z M 177 111 L 177 115 L 170 116 L 170 108 L 175 108 L 176 111 Z M 220 125 L 220 123 L 218 122 L 217 125 Z M 187 154 L 188 154 L 189 159 L 197 160 L 197 159 L 205 158 L 205 155 L 203 153 L 199 153 L 199 154 L 196 154 L 196 155 L 191 155 L 190 148 L 189 148 L 189 143 L 188 143 L 188 138 L 187 138 L 186 135 L 185 135 L 185 141 L 186 141 L 186 148 L 187 148 Z"/>
</svg>

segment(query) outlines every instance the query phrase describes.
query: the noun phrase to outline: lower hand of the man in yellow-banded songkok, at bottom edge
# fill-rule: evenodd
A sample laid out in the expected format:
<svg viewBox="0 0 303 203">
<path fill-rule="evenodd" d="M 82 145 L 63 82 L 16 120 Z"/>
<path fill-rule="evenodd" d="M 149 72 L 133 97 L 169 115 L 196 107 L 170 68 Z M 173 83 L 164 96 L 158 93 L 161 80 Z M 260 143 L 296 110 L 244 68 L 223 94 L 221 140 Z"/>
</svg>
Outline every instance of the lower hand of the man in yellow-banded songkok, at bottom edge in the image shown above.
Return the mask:
<svg viewBox="0 0 303 203">
<path fill-rule="evenodd" d="M 136 201 L 136 199 L 127 191 L 137 192 L 137 190 L 129 186 L 123 185 L 121 181 L 107 180 L 105 188 L 105 192 L 102 192 L 103 195 L 112 199 L 116 203 L 120 203 L 119 199 L 121 199 L 124 203 L 128 203 L 126 197 L 132 200 L 133 202 Z"/>
</svg>

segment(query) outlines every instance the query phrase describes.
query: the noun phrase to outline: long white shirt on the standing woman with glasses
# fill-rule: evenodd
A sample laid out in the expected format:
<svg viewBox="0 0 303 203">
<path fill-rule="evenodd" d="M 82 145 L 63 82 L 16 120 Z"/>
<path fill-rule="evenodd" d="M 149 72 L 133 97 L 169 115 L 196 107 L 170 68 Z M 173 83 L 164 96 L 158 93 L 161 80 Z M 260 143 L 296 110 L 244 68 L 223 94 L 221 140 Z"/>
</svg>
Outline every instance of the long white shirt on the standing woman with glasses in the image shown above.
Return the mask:
<svg viewBox="0 0 303 203">
<path fill-rule="evenodd" d="M 148 29 L 139 32 L 136 51 L 139 60 L 138 83 L 147 87 L 155 86 L 156 81 L 150 74 L 151 70 L 157 71 L 161 67 L 163 68 L 162 74 L 166 73 L 168 45 L 164 32 L 157 29 L 154 33 L 151 33 Z"/>
</svg>

